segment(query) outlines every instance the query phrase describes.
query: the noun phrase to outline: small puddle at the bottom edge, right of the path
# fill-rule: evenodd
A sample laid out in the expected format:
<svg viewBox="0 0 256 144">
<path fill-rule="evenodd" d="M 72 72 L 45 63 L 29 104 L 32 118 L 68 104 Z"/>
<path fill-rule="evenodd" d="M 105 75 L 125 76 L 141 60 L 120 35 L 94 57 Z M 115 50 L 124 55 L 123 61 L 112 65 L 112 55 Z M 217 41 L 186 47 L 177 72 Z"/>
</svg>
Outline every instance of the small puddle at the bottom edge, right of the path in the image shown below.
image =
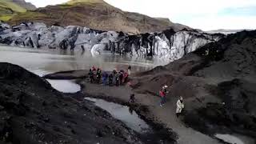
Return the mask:
<svg viewBox="0 0 256 144">
<path fill-rule="evenodd" d="M 215 134 L 216 138 L 230 144 L 254 144 L 253 138 L 249 138 L 240 134 Z"/>
</svg>

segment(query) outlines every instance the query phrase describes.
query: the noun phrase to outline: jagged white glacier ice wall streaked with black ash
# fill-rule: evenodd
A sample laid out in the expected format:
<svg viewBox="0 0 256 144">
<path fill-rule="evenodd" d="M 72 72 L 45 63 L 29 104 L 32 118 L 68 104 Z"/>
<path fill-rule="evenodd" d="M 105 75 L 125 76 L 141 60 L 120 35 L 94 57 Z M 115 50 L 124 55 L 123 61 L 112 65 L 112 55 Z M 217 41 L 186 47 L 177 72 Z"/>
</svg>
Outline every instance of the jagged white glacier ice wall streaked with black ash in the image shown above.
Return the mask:
<svg viewBox="0 0 256 144">
<path fill-rule="evenodd" d="M 0 25 L 0 43 L 63 50 L 87 50 L 93 55 L 111 51 L 129 57 L 155 57 L 175 60 L 216 42 L 222 34 L 202 34 L 194 30 L 173 29 L 154 34 L 130 35 L 115 31 L 91 30 L 82 26 L 50 26 L 29 22 L 10 27 Z"/>
</svg>

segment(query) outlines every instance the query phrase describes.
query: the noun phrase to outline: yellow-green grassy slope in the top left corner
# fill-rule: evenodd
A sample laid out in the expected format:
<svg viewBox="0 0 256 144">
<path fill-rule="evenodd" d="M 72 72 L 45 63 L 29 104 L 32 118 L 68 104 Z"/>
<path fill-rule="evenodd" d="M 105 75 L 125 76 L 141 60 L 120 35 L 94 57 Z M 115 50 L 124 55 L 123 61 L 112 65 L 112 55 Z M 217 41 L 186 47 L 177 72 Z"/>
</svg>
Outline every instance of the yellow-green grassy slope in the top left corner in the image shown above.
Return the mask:
<svg viewBox="0 0 256 144">
<path fill-rule="evenodd" d="M 0 0 L 0 20 L 8 21 L 15 14 L 35 9 L 34 5 L 24 0 Z"/>
</svg>

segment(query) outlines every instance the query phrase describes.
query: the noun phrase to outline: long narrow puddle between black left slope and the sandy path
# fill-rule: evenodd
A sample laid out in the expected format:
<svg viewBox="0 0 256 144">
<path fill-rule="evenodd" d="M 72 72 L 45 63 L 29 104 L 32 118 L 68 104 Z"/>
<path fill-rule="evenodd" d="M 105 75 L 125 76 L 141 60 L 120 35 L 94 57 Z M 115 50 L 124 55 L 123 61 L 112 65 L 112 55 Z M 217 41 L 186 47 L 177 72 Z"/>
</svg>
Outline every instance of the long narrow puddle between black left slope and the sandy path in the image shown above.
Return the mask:
<svg viewBox="0 0 256 144">
<path fill-rule="evenodd" d="M 151 131 L 150 126 L 146 124 L 138 114 L 128 106 L 122 106 L 114 102 L 106 102 L 102 99 L 96 98 L 85 98 L 86 100 L 92 101 L 96 106 L 101 107 L 102 109 L 109 112 L 114 118 L 121 120 L 130 127 L 130 129 L 135 130 L 136 132 L 143 134 Z"/>
</svg>

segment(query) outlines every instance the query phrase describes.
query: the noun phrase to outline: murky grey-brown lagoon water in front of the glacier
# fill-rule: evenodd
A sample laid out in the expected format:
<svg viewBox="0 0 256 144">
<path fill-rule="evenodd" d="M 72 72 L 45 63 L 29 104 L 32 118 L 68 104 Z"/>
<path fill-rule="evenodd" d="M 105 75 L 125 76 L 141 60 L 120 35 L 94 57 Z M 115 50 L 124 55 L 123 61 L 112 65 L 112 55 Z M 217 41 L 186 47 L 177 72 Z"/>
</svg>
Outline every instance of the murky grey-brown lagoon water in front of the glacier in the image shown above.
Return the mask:
<svg viewBox="0 0 256 144">
<path fill-rule="evenodd" d="M 86 51 L 82 55 L 81 52 L 81 50 L 38 50 L 0 46 L 0 62 L 10 62 L 32 71 L 45 70 L 48 72 L 85 70 L 91 66 L 99 66 L 103 70 L 125 70 L 129 65 L 132 66 L 133 71 L 142 71 L 167 63 L 152 58 L 122 58 L 109 53 L 94 58 L 90 51 Z"/>
</svg>

